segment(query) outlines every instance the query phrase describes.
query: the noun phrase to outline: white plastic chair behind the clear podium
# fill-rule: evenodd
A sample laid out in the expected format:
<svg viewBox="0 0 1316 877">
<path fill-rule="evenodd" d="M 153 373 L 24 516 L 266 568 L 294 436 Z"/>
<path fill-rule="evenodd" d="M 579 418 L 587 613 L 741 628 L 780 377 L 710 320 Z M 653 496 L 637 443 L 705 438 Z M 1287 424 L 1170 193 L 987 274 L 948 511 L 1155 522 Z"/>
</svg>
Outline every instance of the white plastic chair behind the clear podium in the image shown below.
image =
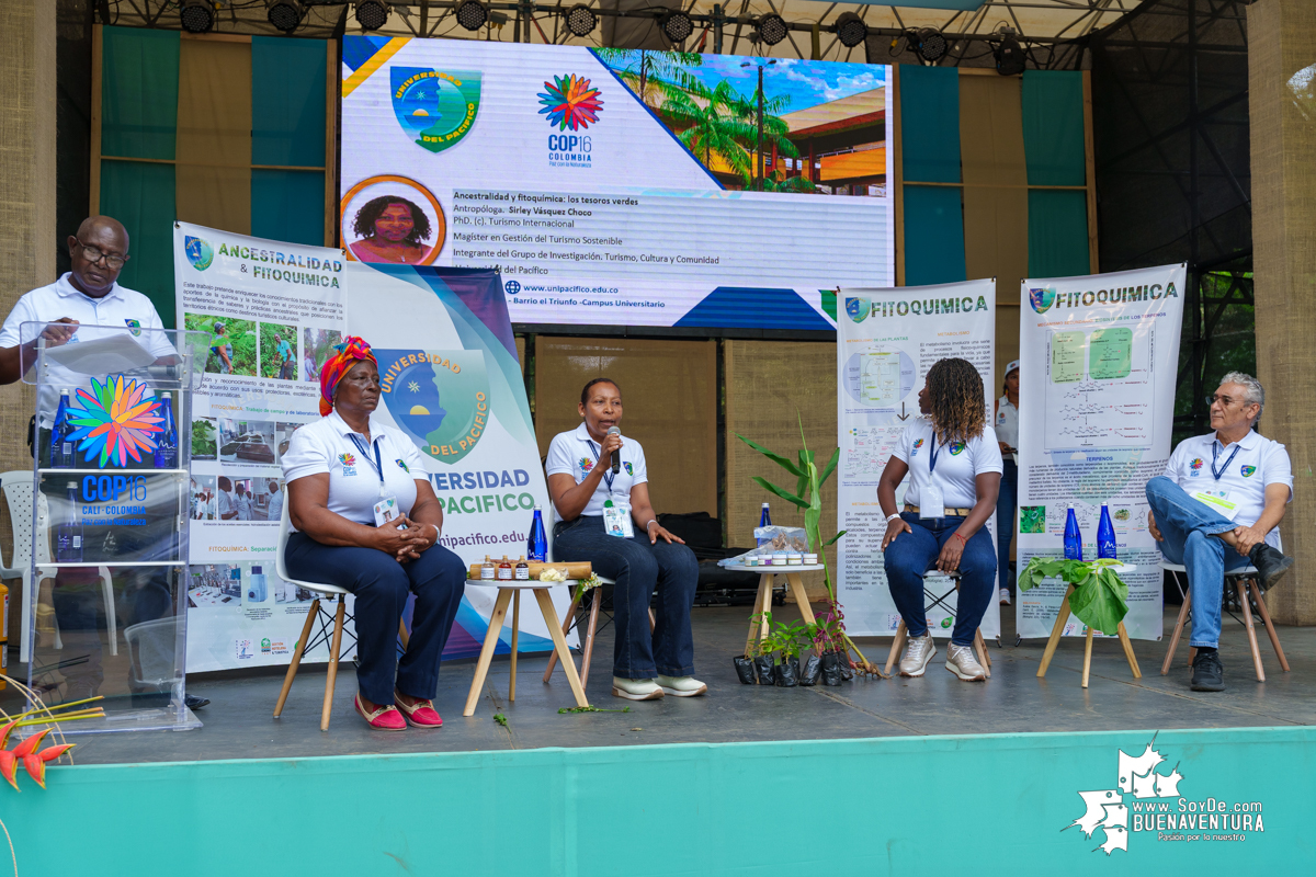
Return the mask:
<svg viewBox="0 0 1316 877">
<path fill-rule="evenodd" d="M 0 473 L 0 490 L 9 506 L 9 522 L 13 525 L 13 556 L 9 563 L 0 559 L 0 579 L 22 579 L 22 630 L 18 639 L 18 660 L 32 661 L 32 611 L 37 602 L 37 590 L 46 579 L 55 577 L 55 567 L 50 564 L 50 505 L 45 494 L 37 502 L 37 581 L 32 580 L 32 469 L 18 469 Z M 118 655 L 118 635 L 114 617 L 114 586 L 109 568 L 100 567 L 100 582 L 105 596 L 105 627 L 109 632 L 109 653 Z M 55 623 L 55 648 L 63 648 L 59 625 Z"/>
</svg>

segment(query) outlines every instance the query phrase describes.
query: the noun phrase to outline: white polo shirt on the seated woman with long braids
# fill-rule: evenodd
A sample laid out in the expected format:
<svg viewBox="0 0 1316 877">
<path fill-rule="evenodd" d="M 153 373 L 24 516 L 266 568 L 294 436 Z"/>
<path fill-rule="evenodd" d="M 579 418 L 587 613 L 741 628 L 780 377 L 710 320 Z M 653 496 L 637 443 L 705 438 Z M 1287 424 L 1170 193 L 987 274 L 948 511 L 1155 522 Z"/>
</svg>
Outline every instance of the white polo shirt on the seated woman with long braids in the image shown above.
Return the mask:
<svg viewBox="0 0 1316 877">
<path fill-rule="evenodd" d="M 978 485 L 974 477 L 983 472 L 1004 472 L 1000 459 L 1000 444 L 996 431 L 983 427 L 983 434 L 969 444 L 951 442 L 937 447 L 937 468 L 930 469 L 932 447 L 937 440 L 932 429 L 932 418 L 920 417 L 905 426 L 891 456 L 903 460 L 909 467 L 909 486 L 904 501 L 921 506 L 919 497 L 929 484 L 941 488 L 941 498 L 948 509 L 971 509 L 978 502 Z"/>
</svg>

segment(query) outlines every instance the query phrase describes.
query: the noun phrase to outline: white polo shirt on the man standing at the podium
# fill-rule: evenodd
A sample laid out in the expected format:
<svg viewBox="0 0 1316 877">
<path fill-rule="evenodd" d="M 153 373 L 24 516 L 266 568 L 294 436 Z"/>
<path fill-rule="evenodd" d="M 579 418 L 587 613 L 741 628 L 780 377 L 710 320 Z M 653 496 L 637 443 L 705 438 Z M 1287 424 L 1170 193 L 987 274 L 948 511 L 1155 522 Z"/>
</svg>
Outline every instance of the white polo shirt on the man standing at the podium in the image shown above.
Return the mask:
<svg viewBox="0 0 1316 877">
<path fill-rule="evenodd" d="M 116 283 L 101 298 L 92 298 L 75 289 L 68 283 L 68 277 L 70 275 L 64 273 L 49 287 L 38 287 L 18 298 L 13 310 L 5 317 L 4 327 L 0 329 L 0 347 L 17 347 L 36 341 L 41 333 L 34 326 L 28 326 L 24 330 L 22 323 L 25 322 L 54 322 L 64 317 L 82 323 L 74 337 L 68 339 L 70 344 L 114 334 L 107 329 L 96 329 L 96 326 L 164 327 L 159 314 L 155 313 L 155 305 L 142 293 Z M 137 342 L 157 358 L 178 354 L 168 337 L 161 331 L 143 331 L 137 337 Z M 89 389 L 91 380 L 63 366 L 47 363 L 41 397 L 37 400 L 41 404 L 42 426 L 54 423 L 55 410 L 59 408 L 59 391 L 64 387 Z"/>
</svg>

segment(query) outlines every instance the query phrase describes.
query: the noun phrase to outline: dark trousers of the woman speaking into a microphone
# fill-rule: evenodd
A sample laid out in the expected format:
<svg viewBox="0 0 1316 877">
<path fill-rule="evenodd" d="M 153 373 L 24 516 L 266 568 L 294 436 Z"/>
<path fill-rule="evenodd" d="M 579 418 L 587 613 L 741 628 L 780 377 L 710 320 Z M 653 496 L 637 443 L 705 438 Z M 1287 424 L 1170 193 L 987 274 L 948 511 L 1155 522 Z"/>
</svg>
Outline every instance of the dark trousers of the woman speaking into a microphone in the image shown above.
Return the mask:
<svg viewBox="0 0 1316 877">
<path fill-rule="evenodd" d="M 637 527 L 638 530 L 638 527 Z M 588 560 L 600 576 L 617 584 L 612 611 L 617 640 L 612 650 L 612 675 L 621 678 L 694 676 L 695 636 L 690 607 L 699 585 L 699 561 L 688 547 L 649 536 L 609 536 L 603 515 L 580 515 L 554 527 L 553 556 Z M 657 625 L 649 632 L 649 596 L 658 589 Z"/>
</svg>

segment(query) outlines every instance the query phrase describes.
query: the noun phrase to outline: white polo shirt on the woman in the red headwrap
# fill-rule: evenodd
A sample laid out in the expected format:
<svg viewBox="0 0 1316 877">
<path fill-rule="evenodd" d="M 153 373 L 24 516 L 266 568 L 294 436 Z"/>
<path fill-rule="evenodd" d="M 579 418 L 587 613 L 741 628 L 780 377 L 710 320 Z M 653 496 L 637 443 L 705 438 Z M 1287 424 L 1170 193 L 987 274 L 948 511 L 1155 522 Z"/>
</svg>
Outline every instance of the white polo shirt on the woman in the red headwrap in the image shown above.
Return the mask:
<svg viewBox="0 0 1316 877">
<path fill-rule="evenodd" d="M 368 460 L 351 439 L 353 435 L 368 451 Z M 416 481 L 429 480 L 420 448 L 401 430 L 383 423 L 375 415 L 370 418 L 370 437 L 379 443 L 384 496 L 396 497 L 397 508 L 404 514 L 411 514 L 416 505 Z M 288 450 L 283 452 L 282 464 L 284 483 L 328 472 L 329 510 L 349 521 L 375 526 L 375 504 L 380 496 L 375 451 L 366 437 L 354 433 L 338 412 L 329 412 L 328 417 L 297 427 Z"/>
</svg>

